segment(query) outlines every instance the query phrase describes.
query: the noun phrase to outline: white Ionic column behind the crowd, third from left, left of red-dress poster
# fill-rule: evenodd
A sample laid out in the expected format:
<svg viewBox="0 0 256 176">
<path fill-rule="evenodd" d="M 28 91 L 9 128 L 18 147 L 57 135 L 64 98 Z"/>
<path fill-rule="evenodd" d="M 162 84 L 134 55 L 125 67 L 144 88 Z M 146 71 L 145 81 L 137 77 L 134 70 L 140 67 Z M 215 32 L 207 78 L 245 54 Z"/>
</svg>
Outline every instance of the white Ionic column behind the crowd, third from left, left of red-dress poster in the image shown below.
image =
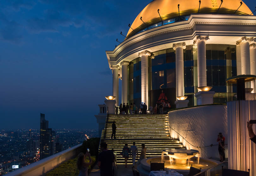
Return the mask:
<svg viewBox="0 0 256 176">
<path fill-rule="evenodd" d="M 141 101 L 149 107 L 148 56 L 150 52 L 143 51 L 138 56 L 141 57 Z"/>
</svg>

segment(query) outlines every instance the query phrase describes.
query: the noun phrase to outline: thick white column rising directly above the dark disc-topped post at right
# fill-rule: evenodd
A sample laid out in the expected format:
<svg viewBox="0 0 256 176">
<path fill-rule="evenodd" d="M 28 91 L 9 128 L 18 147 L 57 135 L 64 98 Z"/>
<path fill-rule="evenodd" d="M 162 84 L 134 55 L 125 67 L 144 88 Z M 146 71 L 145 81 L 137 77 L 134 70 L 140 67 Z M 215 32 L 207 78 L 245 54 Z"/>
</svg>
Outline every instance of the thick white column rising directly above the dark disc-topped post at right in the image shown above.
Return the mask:
<svg viewBox="0 0 256 176">
<path fill-rule="evenodd" d="M 242 37 L 236 41 L 236 45 L 240 45 L 241 50 L 241 74 L 251 74 L 250 71 L 250 41 L 252 38 Z"/>
</svg>

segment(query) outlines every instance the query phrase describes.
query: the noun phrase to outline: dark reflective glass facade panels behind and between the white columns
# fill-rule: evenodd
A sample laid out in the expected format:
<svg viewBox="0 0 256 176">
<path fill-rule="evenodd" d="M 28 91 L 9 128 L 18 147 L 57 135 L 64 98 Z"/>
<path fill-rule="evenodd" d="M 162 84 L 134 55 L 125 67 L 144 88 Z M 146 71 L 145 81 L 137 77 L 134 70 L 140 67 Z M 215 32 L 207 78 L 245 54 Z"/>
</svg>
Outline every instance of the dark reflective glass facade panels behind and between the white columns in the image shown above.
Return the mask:
<svg viewBox="0 0 256 176">
<path fill-rule="evenodd" d="M 195 105 L 194 93 L 197 92 L 197 46 L 189 45 L 184 54 L 184 93 L 188 96 L 188 106 Z M 153 106 L 164 94 L 175 108 L 176 75 L 175 51 L 173 48 L 153 52 L 154 59 L 149 59 L 149 106 Z M 227 101 L 226 79 L 236 75 L 235 45 L 206 44 L 207 85 L 215 91 L 214 102 Z M 136 58 L 129 66 L 129 101 L 139 105 L 141 102 L 141 60 Z"/>
</svg>

